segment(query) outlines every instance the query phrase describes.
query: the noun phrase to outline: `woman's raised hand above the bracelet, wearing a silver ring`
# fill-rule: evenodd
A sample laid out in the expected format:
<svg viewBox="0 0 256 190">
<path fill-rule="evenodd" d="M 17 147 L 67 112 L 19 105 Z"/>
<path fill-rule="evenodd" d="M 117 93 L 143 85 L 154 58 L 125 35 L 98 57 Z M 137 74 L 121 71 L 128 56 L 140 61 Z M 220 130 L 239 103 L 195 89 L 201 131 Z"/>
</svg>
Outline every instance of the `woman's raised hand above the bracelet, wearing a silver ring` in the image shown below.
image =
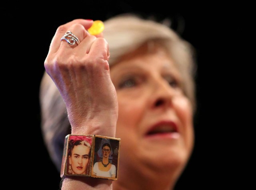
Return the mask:
<svg viewBox="0 0 256 190">
<path fill-rule="evenodd" d="M 87 32 L 92 23 L 77 19 L 58 27 L 44 66 L 64 99 L 72 134 L 115 137 L 118 103 L 110 79 L 108 43 L 102 34 Z M 61 41 L 67 31 L 80 44 Z"/>
</svg>

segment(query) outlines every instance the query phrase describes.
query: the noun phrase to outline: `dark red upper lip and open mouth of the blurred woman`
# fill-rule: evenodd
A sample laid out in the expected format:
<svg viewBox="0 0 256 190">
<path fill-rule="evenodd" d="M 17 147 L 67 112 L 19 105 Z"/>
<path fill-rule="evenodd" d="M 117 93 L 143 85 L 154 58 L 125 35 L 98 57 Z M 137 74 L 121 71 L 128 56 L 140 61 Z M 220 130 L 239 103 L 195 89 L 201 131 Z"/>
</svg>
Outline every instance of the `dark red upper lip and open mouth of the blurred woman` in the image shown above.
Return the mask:
<svg viewBox="0 0 256 190">
<path fill-rule="evenodd" d="M 171 133 L 178 133 L 178 127 L 176 123 L 173 121 L 160 121 L 150 127 L 146 135 L 151 136 Z"/>
</svg>

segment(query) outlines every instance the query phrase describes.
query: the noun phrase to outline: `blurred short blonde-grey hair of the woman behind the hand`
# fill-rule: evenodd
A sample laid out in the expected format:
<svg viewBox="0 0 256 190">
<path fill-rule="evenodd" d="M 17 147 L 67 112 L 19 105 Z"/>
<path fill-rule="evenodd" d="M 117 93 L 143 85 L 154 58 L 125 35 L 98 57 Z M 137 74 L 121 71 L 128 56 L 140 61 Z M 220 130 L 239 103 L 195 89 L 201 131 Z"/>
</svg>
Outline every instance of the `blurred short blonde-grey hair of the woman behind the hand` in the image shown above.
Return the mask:
<svg viewBox="0 0 256 190">
<path fill-rule="evenodd" d="M 147 42 L 157 41 L 168 49 L 181 73 L 184 93 L 195 109 L 194 51 L 188 42 L 182 40 L 164 24 L 144 20 L 132 14 L 115 16 L 106 20 L 104 24 L 104 38 L 110 50 L 110 67 L 118 63 L 123 55 Z M 42 77 L 40 86 L 40 106 L 44 142 L 52 161 L 60 170 L 64 138 L 71 133 L 71 128 L 64 101 L 56 85 L 46 73 Z"/>
</svg>

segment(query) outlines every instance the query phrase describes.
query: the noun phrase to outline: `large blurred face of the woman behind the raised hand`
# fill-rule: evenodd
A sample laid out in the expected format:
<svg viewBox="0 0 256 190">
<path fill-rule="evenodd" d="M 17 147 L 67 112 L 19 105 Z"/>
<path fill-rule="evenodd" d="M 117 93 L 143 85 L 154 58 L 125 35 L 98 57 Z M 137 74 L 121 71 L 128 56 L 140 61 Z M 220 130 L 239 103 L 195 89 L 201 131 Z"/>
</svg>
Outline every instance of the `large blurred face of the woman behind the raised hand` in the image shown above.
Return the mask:
<svg viewBox="0 0 256 190">
<path fill-rule="evenodd" d="M 110 75 L 118 96 L 120 164 L 140 172 L 182 170 L 194 142 L 192 106 L 173 60 L 160 46 L 142 46 L 113 65 Z"/>
</svg>

